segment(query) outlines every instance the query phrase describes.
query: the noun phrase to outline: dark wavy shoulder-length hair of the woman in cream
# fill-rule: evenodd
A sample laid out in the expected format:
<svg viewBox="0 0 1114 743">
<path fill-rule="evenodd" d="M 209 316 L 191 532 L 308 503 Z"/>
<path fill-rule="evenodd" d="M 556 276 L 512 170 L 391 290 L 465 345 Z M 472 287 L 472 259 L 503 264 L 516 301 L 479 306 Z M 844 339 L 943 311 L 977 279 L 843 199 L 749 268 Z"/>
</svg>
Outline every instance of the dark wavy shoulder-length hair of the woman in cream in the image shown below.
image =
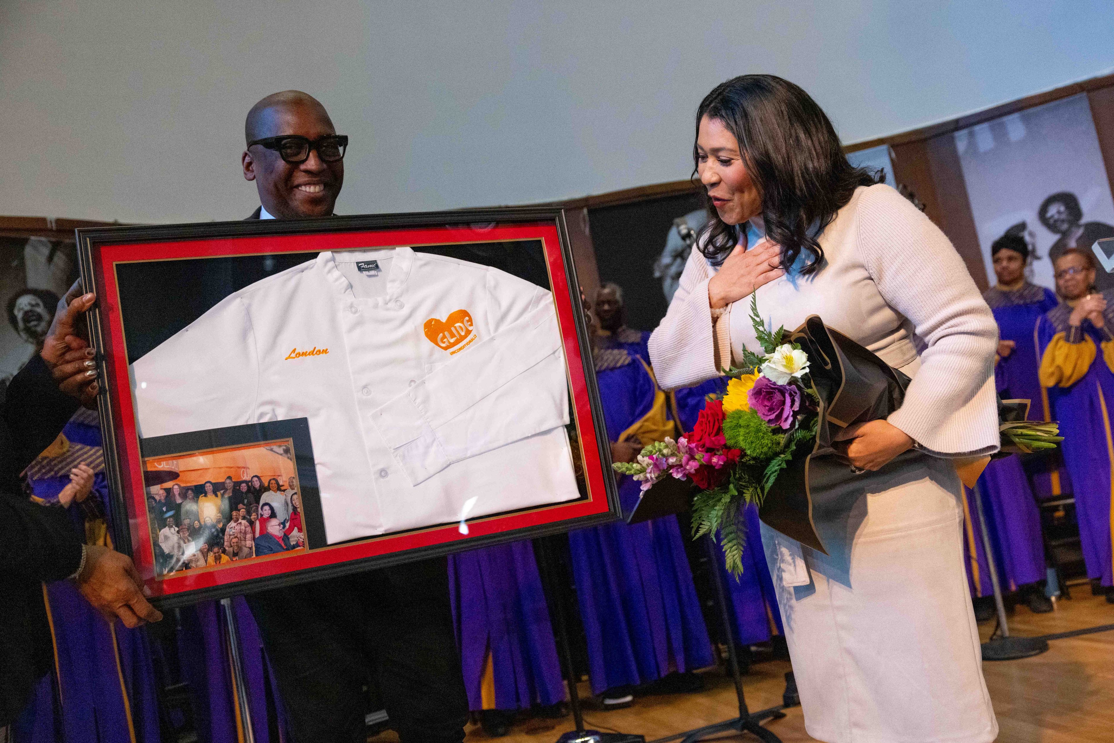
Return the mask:
<svg viewBox="0 0 1114 743">
<path fill-rule="evenodd" d="M 780 77 L 743 75 L 721 82 L 696 109 L 697 135 L 705 116 L 722 121 L 739 140 L 743 163 L 762 194 L 766 235 L 781 246 L 781 265 L 793 265 L 804 253 L 809 262 L 801 273 L 819 271 L 824 251 L 817 236 L 856 188 L 879 183 L 878 174 L 853 167 L 817 101 Z M 697 156 L 694 141 L 694 178 Z M 737 244 L 739 231 L 705 199 L 709 222 L 700 250 L 717 263 Z"/>
</svg>

